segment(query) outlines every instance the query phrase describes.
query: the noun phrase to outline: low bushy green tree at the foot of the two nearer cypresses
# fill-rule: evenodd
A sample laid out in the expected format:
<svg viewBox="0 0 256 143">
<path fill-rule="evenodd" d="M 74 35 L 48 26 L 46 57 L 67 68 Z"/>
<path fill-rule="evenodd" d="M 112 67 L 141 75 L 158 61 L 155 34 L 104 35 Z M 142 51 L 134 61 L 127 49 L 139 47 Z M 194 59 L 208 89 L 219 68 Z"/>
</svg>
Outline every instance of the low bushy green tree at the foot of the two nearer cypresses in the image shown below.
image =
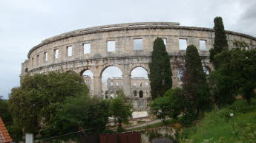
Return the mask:
<svg viewBox="0 0 256 143">
<path fill-rule="evenodd" d="M 183 94 L 182 89 L 174 88 L 166 91 L 163 97 L 159 97 L 151 102 L 151 113 L 157 115 L 157 118 L 165 121 L 165 116 L 177 118 L 185 111 L 188 101 Z"/>
</svg>

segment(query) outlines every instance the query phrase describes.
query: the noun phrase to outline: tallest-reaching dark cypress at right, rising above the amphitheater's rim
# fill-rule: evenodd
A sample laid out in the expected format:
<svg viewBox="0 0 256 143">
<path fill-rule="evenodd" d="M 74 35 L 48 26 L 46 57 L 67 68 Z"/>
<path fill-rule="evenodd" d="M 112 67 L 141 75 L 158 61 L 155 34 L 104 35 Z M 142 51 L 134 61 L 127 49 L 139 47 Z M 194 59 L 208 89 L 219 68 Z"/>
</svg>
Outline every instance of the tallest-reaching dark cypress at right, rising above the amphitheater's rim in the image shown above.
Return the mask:
<svg viewBox="0 0 256 143">
<path fill-rule="evenodd" d="M 212 63 L 214 63 L 215 69 L 217 69 L 218 63 L 214 61 L 214 55 L 219 54 L 225 48 L 229 47 L 221 17 L 214 18 L 214 34 L 214 49 L 210 49 L 210 60 Z"/>
</svg>

